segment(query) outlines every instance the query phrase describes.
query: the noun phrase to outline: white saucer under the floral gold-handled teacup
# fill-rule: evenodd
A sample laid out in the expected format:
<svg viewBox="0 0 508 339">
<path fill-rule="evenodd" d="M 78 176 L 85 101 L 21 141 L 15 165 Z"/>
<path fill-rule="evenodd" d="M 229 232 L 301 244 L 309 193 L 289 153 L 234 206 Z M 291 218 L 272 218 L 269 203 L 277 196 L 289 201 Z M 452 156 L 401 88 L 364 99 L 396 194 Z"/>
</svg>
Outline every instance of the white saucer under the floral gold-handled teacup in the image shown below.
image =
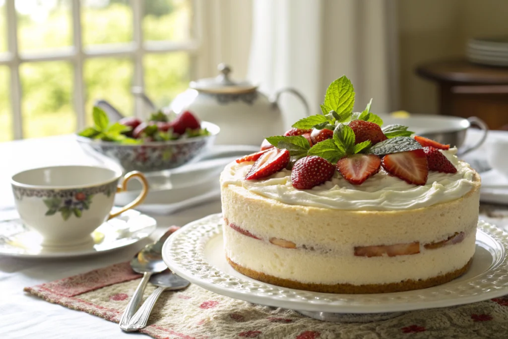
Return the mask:
<svg viewBox="0 0 508 339">
<path fill-rule="evenodd" d="M 86 248 L 55 249 L 41 246 L 42 236 L 24 225 L 17 213 L 2 213 L 2 217 L 8 220 L 0 221 L 0 256 L 19 258 L 68 258 L 105 253 L 138 242 L 157 227 L 153 218 L 130 209 L 93 231 L 93 244 Z"/>
</svg>

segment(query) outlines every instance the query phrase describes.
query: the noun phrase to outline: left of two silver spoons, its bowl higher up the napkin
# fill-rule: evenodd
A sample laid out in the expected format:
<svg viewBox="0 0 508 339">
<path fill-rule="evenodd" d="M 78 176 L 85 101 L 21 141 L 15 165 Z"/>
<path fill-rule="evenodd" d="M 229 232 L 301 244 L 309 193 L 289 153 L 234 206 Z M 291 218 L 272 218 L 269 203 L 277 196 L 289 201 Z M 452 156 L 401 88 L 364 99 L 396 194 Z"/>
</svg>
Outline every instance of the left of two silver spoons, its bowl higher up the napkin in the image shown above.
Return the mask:
<svg viewBox="0 0 508 339">
<path fill-rule="evenodd" d="M 134 292 L 131 300 L 127 304 L 125 311 L 123 312 L 118 326 L 124 331 L 129 328 L 129 321 L 131 320 L 134 312 L 136 311 L 141 299 L 143 298 L 143 292 L 145 291 L 146 284 L 153 273 L 160 273 L 164 271 L 168 266 L 162 260 L 162 245 L 166 239 L 175 232 L 174 227 L 163 234 L 157 241 L 150 243 L 145 246 L 143 250 L 138 252 L 131 260 L 131 267 L 137 273 L 143 273 L 143 279 L 138 285 L 138 288 Z"/>
</svg>

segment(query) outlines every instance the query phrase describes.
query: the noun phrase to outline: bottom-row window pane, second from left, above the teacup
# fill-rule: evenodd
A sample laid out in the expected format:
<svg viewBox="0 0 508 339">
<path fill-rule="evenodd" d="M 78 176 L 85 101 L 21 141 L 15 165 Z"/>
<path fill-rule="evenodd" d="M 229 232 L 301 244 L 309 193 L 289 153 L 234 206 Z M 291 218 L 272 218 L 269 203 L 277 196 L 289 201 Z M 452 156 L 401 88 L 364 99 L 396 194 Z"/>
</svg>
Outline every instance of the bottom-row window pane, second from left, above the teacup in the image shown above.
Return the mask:
<svg viewBox="0 0 508 339">
<path fill-rule="evenodd" d="M 21 110 L 25 138 L 76 131 L 72 73 L 71 64 L 65 61 L 21 65 Z"/>
</svg>

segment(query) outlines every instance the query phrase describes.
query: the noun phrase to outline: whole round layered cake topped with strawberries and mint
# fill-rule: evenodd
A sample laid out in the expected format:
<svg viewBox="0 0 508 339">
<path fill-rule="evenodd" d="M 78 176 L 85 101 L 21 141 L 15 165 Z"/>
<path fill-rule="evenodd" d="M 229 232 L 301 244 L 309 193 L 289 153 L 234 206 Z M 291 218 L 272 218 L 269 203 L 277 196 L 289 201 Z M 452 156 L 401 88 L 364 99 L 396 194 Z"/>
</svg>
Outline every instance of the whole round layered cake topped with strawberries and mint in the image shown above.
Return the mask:
<svg viewBox="0 0 508 339">
<path fill-rule="evenodd" d="M 340 104 L 339 104 L 340 103 Z M 334 81 L 323 114 L 268 137 L 220 175 L 230 265 L 269 284 L 327 293 L 428 288 L 468 270 L 480 176 L 455 147 L 353 112 Z"/>
</svg>

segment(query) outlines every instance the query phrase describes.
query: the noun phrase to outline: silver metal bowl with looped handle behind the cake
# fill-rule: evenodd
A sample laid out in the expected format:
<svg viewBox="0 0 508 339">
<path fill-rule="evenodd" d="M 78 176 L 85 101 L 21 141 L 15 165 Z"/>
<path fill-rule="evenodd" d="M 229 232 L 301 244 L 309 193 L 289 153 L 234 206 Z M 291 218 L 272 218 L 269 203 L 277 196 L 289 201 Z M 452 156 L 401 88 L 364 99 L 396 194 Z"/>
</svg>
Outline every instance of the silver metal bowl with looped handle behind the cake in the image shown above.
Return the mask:
<svg viewBox="0 0 508 339">
<path fill-rule="evenodd" d="M 489 129 L 482 119 L 475 116 L 465 119 L 448 115 L 411 114 L 407 117 L 383 115 L 382 118 L 384 126 L 391 124 L 409 126 L 409 130 L 417 135 L 442 144 L 457 146 L 460 156 L 480 147 L 487 139 Z M 479 127 L 483 131 L 483 135 L 476 144 L 463 147 L 466 131 L 471 126 Z"/>
</svg>

